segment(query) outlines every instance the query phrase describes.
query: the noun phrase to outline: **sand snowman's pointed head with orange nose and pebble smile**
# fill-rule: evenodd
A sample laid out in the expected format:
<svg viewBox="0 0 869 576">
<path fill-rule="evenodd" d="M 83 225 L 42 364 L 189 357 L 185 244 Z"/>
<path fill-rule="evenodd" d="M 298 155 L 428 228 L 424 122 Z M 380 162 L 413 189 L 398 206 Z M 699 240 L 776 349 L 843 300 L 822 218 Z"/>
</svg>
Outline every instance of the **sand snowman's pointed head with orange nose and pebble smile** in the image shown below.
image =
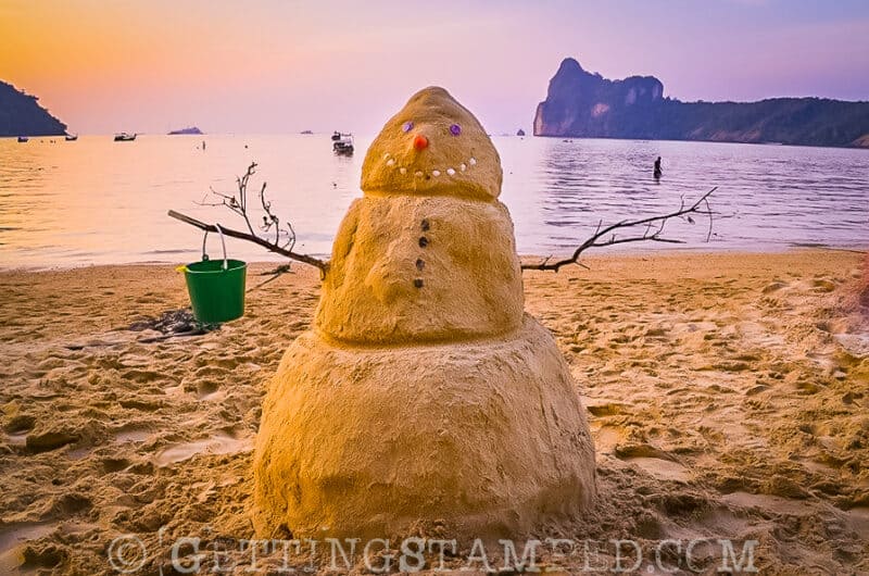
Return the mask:
<svg viewBox="0 0 869 576">
<path fill-rule="evenodd" d="M 416 92 L 368 148 L 362 189 L 492 200 L 501 159 L 474 114 L 443 88 Z"/>
</svg>

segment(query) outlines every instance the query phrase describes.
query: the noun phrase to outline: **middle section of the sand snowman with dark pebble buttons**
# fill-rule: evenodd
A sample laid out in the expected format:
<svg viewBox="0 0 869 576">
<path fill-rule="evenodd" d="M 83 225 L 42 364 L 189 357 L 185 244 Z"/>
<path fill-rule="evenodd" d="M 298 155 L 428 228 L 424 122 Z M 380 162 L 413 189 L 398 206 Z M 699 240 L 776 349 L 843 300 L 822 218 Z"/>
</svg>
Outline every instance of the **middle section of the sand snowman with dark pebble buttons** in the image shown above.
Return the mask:
<svg viewBox="0 0 869 576">
<path fill-rule="evenodd" d="M 517 330 L 522 308 L 504 204 L 366 192 L 338 230 L 315 324 L 349 343 L 455 342 Z"/>
</svg>

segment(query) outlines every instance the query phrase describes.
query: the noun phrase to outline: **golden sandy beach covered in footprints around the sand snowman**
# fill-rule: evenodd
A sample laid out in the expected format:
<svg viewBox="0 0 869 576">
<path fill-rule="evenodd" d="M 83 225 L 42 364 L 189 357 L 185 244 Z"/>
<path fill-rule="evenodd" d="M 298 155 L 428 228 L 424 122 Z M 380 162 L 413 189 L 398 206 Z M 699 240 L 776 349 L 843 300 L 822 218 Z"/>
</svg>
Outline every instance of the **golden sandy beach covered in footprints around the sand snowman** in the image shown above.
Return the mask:
<svg viewBox="0 0 869 576">
<path fill-rule="evenodd" d="M 533 536 L 754 539 L 760 574 L 869 574 L 861 259 L 669 252 L 526 272 L 526 310 L 589 411 L 599 483 L 591 514 Z M 166 542 L 253 537 L 261 401 L 319 297 L 317 271 L 272 268 L 250 267 L 243 318 L 186 337 L 147 327 L 188 305 L 174 266 L 0 273 L 0 573 L 116 574 L 111 542 L 131 534 L 149 551 L 136 574 L 173 574 Z M 711 548 L 695 559 L 720 565 Z"/>
</svg>

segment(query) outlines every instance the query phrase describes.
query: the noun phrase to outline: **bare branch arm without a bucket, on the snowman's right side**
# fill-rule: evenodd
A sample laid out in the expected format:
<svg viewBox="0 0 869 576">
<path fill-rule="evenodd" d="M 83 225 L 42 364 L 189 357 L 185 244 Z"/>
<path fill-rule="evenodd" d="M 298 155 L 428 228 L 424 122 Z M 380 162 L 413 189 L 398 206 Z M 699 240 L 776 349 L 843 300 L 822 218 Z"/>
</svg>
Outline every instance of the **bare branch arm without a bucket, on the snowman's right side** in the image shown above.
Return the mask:
<svg viewBox="0 0 869 576">
<path fill-rule="evenodd" d="M 605 246 L 615 246 L 628 242 L 667 242 L 667 243 L 683 243 L 683 240 L 677 240 L 673 238 L 664 238 L 662 234 L 664 234 L 664 227 L 667 225 L 667 222 L 670 218 L 685 218 L 689 223 L 694 224 L 694 218 L 691 217 L 691 214 L 701 214 L 709 217 L 709 230 L 706 234 L 706 241 L 709 241 L 713 234 L 713 210 L 709 205 L 709 196 L 717 190 L 718 187 L 716 186 L 702 197 L 697 199 L 696 202 L 691 204 L 690 206 L 685 206 L 684 198 L 681 199 L 681 203 L 679 205 L 679 210 L 675 212 L 670 212 L 669 214 L 662 214 L 659 216 L 650 216 L 647 218 L 640 218 L 640 220 L 622 220 L 621 222 L 617 222 L 616 224 L 612 224 L 605 228 L 602 228 L 602 222 L 597 223 L 597 228 L 595 229 L 594 234 L 583 241 L 581 245 L 577 247 L 574 251 L 574 254 L 570 258 L 559 260 L 557 262 L 550 262 L 551 256 L 546 258 L 542 262 L 538 264 L 522 264 L 521 270 L 545 270 L 545 271 L 553 271 L 558 272 L 562 266 L 566 266 L 568 264 L 578 264 L 580 266 L 585 267 L 581 262 L 579 262 L 579 256 L 585 250 L 590 248 L 603 248 Z M 625 230 L 629 228 L 637 228 L 640 226 L 645 226 L 645 231 L 637 236 L 625 236 L 619 238 L 616 236 L 616 230 Z M 608 239 L 601 240 L 609 236 Z"/>
</svg>

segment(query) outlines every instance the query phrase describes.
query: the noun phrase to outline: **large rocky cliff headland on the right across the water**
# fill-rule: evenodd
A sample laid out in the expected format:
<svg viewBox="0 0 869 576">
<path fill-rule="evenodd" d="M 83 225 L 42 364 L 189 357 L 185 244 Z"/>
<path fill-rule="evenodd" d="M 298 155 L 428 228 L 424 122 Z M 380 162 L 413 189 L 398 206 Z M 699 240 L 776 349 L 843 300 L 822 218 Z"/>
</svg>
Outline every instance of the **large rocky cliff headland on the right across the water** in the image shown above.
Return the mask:
<svg viewBox="0 0 869 576">
<path fill-rule="evenodd" d="M 869 102 L 681 102 L 654 76 L 610 80 L 568 58 L 537 107 L 534 136 L 869 148 Z"/>
</svg>

